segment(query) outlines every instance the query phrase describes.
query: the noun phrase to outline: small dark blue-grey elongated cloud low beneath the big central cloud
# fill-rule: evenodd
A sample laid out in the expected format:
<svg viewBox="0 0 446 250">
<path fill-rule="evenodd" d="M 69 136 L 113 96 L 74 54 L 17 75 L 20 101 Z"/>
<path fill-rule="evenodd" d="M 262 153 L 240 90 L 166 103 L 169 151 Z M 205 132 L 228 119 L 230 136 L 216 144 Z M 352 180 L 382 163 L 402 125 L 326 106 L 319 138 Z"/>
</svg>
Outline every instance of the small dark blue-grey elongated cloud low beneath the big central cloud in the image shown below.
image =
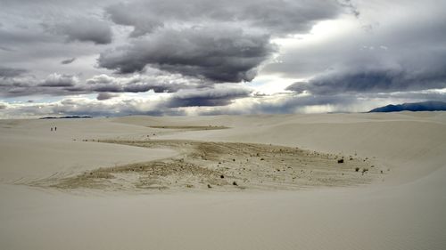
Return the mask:
<svg viewBox="0 0 446 250">
<path fill-rule="evenodd" d="M 251 90 L 244 88 L 211 88 L 174 94 L 162 105 L 167 108 L 227 106 L 235 99 L 247 97 L 251 93 Z"/>
</svg>

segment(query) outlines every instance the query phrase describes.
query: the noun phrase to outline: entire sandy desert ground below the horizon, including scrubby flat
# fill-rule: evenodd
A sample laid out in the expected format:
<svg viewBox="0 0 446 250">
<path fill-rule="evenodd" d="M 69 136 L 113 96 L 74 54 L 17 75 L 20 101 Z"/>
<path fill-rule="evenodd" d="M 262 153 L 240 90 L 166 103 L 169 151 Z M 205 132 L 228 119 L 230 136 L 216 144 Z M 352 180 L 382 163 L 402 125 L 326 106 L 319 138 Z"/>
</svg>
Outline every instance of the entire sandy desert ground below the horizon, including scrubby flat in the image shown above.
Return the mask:
<svg viewBox="0 0 446 250">
<path fill-rule="evenodd" d="M 0 120 L 0 249 L 446 249 L 446 112 Z"/>
</svg>

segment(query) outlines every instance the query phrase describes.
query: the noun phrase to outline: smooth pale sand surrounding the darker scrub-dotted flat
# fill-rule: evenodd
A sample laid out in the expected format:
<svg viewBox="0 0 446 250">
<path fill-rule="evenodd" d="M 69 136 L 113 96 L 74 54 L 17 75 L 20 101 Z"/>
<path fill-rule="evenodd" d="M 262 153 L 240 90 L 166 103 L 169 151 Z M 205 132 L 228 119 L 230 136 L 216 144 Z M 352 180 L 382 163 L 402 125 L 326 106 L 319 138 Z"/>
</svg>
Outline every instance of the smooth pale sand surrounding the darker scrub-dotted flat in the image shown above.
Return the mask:
<svg viewBox="0 0 446 250">
<path fill-rule="evenodd" d="M 82 141 L 147 135 L 356 153 L 390 171 L 368 185 L 293 191 L 140 194 L 13 184 L 177 154 Z M 445 112 L 4 120 L 0 150 L 1 249 L 446 249 Z"/>
</svg>

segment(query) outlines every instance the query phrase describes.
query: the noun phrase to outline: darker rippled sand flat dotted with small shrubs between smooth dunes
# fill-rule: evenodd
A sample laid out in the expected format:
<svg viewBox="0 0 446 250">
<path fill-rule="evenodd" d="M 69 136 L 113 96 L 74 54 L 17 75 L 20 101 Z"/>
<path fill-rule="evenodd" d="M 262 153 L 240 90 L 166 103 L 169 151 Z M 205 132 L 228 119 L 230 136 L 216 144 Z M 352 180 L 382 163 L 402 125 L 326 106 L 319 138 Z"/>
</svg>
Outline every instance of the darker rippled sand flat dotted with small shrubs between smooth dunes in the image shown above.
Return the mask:
<svg viewBox="0 0 446 250">
<path fill-rule="evenodd" d="M 29 184 L 62 190 L 298 190 L 367 184 L 384 173 L 368 158 L 267 144 L 181 140 L 97 142 L 175 149 L 179 155 L 71 176 L 58 174 Z"/>
</svg>

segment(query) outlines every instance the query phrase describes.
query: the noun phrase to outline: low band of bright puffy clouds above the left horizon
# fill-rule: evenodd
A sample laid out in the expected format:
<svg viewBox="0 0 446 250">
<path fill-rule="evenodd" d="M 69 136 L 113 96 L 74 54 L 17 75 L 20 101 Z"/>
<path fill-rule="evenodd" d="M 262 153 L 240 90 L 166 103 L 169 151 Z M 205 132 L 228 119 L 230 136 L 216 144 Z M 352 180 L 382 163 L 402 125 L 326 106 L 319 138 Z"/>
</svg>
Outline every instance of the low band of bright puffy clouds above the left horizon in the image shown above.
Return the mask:
<svg viewBox="0 0 446 250">
<path fill-rule="evenodd" d="M 200 80 L 187 79 L 178 75 L 164 75 L 160 72 L 148 75 L 113 77 L 105 74 L 81 82 L 77 76 L 52 73 L 44 79 L 33 75 L 12 74 L 6 70 L 0 77 L 0 98 L 33 95 L 72 95 L 89 93 L 175 93 L 181 89 L 200 88 Z M 15 72 L 15 71 L 14 71 Z M 102 95 L 104 96 L 104 95 Z"/>
</svg>

